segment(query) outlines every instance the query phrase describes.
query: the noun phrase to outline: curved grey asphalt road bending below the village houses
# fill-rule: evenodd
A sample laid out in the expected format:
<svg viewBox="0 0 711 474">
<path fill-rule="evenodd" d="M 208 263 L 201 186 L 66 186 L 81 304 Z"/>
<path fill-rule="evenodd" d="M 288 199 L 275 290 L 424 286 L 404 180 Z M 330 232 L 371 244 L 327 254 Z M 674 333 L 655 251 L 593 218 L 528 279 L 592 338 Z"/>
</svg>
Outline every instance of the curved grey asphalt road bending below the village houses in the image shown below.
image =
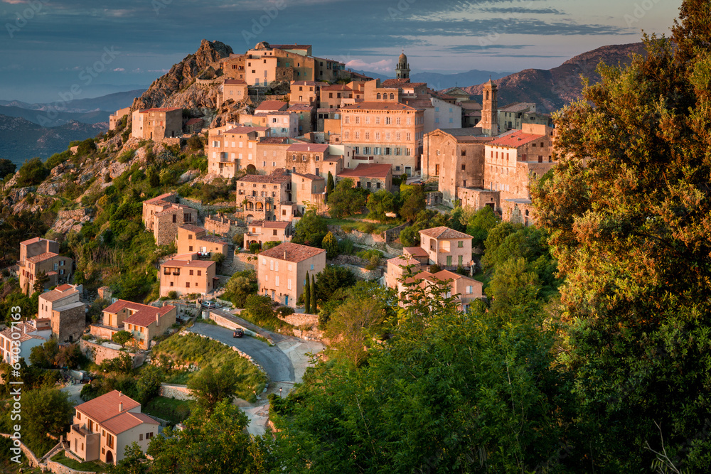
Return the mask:
<svg viewBox="0 0 711 474">
<path fill-rule="evenodd" d="M 208 335 L 230 347 L 237 348 L 250 355 L 257 364 L 264 367 L 269 379 L 274 381 L 294 382 L 294 365 L 289 357 L 277 346 L 269 346 L 261 340 L 245 336 L 232 338 L 232 330 L 212 324 L 196 323 L 188 331 L 196 334 Z"/>
</svg>

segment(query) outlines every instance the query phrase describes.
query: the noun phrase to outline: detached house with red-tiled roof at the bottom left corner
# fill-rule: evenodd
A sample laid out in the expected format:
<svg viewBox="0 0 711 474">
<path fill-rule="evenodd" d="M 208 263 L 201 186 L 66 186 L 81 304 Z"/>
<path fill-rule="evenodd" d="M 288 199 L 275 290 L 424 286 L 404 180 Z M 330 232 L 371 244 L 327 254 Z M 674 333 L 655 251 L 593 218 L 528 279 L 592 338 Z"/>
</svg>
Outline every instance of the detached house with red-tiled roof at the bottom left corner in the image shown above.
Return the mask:
<svg viewBox="0 0 711 474">
<path fill-rule="evenodd" d="M 139 402 L 114 390 L 75 406 L 67 441 L 69 451 L 85 461 L 116 464 L 126 446 L 138 443 L 145 452 L 159 431 L 159 422 L 141 413 Z"/>
</svg>

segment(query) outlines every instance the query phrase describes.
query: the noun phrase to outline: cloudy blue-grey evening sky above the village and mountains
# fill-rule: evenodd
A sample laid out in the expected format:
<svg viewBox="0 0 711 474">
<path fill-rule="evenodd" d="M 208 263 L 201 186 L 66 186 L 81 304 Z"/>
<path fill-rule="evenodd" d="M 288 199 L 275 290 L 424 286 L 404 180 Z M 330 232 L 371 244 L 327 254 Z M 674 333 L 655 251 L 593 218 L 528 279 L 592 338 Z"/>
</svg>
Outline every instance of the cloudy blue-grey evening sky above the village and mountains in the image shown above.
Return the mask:
<svg viewBox="0 0 711 474">
<path fill-rule="evenodd" d="M 393 74 L 550 69 L 669 35 L 682 0 L 0 0 L 0 99 L 67 101 L 148 87 L 201 40 L 260 41 Z"/>
</svg>

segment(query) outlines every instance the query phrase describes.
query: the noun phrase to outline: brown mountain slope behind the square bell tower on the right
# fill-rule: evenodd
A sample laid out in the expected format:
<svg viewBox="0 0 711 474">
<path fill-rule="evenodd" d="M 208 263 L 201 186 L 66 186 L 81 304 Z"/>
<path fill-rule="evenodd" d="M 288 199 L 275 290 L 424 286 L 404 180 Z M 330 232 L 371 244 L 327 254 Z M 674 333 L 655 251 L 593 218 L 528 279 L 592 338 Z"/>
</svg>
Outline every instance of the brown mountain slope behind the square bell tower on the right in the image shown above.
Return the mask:
<svg viewBox="0 0 711 474">
<path fill-rule="evenodd" d="M 631 63 L 630 55 L 633 53 L 644 53 L 643 43 L 603 46 L 577 55 L 557 68 L 550 70 L 526 69 L 501 77 L 493 81 L 498 86 L 498 105 L 502 106 L 512 102 L 535 102 L 539 112 L 555 112 L 565 107 L 565 104 L 581 97 L 581 75 L 589 78 L 591 83 L 598 82 L 600 76 L 595 69 L 599 63 L 629 65 Z M 486 80 L 482 82 L 486 82 Z M 481 102 L 483 83 L 462 87 L 462 89 Z"/>
</svg>

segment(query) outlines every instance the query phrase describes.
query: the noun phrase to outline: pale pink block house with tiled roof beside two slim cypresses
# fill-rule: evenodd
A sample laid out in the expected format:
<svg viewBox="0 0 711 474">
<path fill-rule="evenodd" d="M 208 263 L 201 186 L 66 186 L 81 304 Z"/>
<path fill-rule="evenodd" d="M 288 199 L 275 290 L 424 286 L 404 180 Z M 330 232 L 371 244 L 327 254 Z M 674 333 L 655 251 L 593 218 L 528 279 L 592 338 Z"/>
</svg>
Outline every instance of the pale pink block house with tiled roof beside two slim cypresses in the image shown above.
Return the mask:
<svg viewBox="0 0 711 474">
<path fill-rule="evenodd" d="M 326 250 L 292 242 L 264 250 L 257 258 L 260 294 L 292 308 L 304 291 L 306 274 L 315 276 L 326 268 Z"/>
</svg>

